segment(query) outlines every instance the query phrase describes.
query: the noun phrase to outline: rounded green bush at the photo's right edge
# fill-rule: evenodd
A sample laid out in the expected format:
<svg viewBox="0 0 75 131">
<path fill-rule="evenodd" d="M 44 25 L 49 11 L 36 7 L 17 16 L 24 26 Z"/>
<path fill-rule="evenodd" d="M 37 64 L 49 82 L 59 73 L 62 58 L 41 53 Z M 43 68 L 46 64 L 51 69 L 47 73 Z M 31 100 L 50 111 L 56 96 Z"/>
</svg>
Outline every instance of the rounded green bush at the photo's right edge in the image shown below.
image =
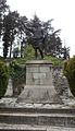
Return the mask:
<svg viewBox="0 0 75 131">
<path fill-rule="evenodd" d="M 70 90 L 72 94 L 75 96 L 75 57 L 64 62 L 63 72 L 68 81 Z"/>
</svg>

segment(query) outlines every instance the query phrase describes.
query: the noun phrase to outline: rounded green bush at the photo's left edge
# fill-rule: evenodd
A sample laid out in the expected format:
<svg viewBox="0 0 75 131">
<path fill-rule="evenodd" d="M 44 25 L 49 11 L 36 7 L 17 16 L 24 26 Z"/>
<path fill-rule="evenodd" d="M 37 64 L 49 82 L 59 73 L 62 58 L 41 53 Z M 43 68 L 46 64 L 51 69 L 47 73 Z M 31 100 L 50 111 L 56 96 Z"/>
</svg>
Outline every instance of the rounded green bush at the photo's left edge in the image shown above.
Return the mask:
<svg viewBox="0 0 75 131">
<path fill-rule="evenodd" d="M 3 61 L 0 60 L 0 98 L 4 95 L 8 86 L 9 70 Z"/>
</svg>

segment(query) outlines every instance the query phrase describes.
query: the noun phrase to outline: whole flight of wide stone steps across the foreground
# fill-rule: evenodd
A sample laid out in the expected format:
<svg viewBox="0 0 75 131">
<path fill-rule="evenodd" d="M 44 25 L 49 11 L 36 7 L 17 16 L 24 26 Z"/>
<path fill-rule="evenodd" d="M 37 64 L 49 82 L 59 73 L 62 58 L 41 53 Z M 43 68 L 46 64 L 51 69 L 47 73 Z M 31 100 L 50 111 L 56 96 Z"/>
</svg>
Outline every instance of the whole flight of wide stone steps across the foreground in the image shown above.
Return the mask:
<svg viewBox="0 0 75 131">
<path fill-rule="evenodd" d="M 0 107 L 0 131 L 75 131 L 75 109 Z"/>
</svg>

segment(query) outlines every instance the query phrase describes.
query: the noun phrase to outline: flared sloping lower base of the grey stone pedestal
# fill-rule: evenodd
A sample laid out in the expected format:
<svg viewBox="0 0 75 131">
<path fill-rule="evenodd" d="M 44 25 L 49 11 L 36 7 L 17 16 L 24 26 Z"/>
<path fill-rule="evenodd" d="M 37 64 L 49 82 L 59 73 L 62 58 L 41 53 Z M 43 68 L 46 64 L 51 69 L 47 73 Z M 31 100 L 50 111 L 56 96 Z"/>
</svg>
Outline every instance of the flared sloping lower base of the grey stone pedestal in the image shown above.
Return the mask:
<svg viewBox="0 0 75 131">
<path fill-rule="evenodd" d="M 55 93 L 54 86 L 26 85 L 17 98 L 18 103 L 49 103 L 62 104 L 60 96 Z"/>
</svg>

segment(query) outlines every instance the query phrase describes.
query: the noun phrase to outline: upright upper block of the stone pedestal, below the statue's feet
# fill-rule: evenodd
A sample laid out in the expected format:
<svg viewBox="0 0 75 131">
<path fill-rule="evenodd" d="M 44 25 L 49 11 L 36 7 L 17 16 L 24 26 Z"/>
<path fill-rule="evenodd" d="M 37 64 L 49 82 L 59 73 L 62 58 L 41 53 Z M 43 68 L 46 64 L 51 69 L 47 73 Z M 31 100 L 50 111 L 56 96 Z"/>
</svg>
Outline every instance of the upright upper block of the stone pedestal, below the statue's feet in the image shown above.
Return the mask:
<svg viewBox="0 0 75 131">
<path fill-rule="evenodd" d="M 52 63 L 48 61 L 29 61 L 26 66 L 26 85 L 53 85 Z"/>
</svg>

